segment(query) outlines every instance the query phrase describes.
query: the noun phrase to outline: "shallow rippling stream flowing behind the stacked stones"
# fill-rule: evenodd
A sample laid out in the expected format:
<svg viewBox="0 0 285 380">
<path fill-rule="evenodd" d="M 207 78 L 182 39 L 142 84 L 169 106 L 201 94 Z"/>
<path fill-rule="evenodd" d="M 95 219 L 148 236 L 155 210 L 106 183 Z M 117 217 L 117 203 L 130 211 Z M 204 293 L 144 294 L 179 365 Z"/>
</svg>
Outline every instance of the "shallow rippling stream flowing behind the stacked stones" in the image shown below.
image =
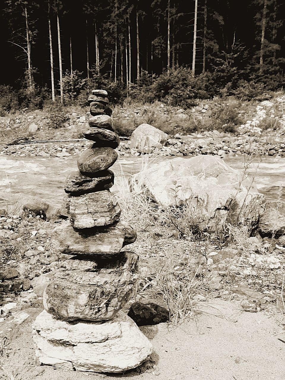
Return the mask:
<svg viewBox="0 0 285 380">
<path fill-rule="evenodd" d="M 25 196 L 36 196 L 50 204 L 62 205 L 65 178 L 77 169 L 76 158 L 0 156 L 0 207 L 21 206 Z M 160 157 L 149 161 L 169 159 Z M 244 169 L 242 156 L 226 158 L 225 162 L 232 168 Z M 141 157 L 121 157 L 112 170 L 118 182 L 121 170 L 128 178 L 137 173 L 141 165 Z M 285 207 L 285 158 L 254 160 L 247 173 L 254 176 L 256 187 L 268 200 L 279 201 L 282 208 Z M 116 179 L 113 190 L 116 192 Z"/>
</svg>

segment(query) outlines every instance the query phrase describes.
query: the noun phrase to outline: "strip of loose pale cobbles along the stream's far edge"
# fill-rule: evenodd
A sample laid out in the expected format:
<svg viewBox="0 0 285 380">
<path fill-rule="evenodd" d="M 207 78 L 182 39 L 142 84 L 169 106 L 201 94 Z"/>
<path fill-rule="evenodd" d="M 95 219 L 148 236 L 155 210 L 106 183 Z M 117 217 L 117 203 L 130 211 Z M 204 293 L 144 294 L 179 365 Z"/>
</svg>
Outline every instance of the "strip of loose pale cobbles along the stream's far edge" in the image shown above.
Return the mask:
<svg viewBox="0 0 285 380">
<path fill-rule="evenodd" d="M 283 136 L 278 131 L 266 133 L 263 136 L 232 135 L 219 131 L 205 131 L 201 134 L 175 135 L 169 138 L 164 146 L 152 150 L 149 155 L 163 156 L 194 156 L 200 154 L 219 155 L 220 157 L 237 157 L 245 155 L 269 155 L 285 157 L 285 143 Z M 64 142 L 33 142 L 3 145 L 0 156 L 16 157 L 61 157 L 79 155 L 86 149 L 86 140 L 70 140 Z M 121 156 L 141 155 L 136 149 L 130 148 L 130 141 L 120 142 L 116 149 Z"/>
</svg>

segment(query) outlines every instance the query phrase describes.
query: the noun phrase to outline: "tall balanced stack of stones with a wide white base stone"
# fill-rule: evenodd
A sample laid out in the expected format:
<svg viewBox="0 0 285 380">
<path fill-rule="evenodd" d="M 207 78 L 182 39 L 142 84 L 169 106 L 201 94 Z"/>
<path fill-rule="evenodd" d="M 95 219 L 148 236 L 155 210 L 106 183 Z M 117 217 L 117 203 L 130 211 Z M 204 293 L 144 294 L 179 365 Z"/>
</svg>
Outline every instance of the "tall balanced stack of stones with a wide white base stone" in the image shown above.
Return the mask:
<svg viewBox="0 0 285 380">
<path fill-rule="evenodd" d="M 152 351 L 149 340 L 125 313 L 133 295 L 138 256 L 122 248 L 136 233 L 120 221 L 120 207 L 109 188 L 117 160 L 108 94 L 93 90 L 89 129 L 92 145 L 66 180 L 69 220 L 55 228 L 53 241 L 63 261 L 44 291 L 44 311 L 33 325 L 41 363 L 94 372 L 122 372 L 139 366 Z"/>
</svg>

